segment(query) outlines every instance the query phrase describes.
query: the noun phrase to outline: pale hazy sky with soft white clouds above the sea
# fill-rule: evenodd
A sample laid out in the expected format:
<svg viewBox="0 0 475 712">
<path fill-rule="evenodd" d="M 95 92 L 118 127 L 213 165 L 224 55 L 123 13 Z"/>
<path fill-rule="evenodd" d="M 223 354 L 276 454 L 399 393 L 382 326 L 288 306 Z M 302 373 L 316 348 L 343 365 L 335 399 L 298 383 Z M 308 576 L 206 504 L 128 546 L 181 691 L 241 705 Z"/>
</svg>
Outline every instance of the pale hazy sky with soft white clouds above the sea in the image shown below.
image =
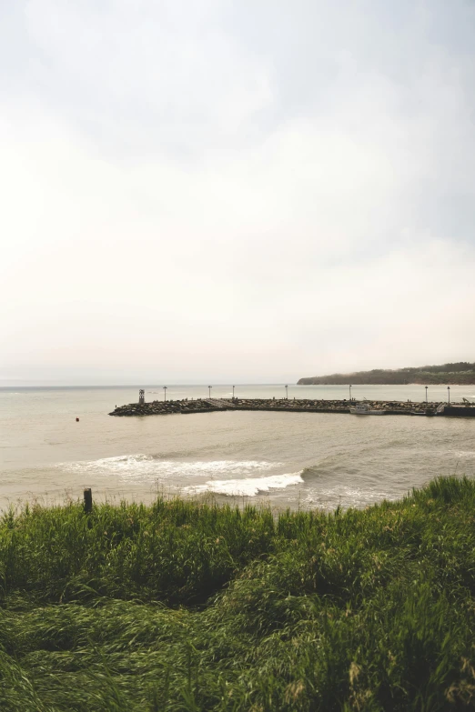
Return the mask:
<svg viewBox="0 0 475 712">
<path fill-rule="evenodd" d="M 0 0 L 0 379 L 475 360 L 472 0 Z"/>
</svg>

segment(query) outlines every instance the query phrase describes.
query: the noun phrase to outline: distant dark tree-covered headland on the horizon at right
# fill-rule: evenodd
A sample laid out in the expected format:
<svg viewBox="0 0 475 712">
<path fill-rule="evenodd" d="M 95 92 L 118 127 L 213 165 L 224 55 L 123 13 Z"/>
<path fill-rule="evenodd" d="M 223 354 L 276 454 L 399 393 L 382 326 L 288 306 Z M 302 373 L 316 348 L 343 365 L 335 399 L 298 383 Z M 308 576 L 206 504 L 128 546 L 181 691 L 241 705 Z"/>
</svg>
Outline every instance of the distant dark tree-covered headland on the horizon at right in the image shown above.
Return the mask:
<svg viewBox="0 0 475 712">
<path fill-rule="evenodd" d="M 475 384 L 475 362 L 460 361 L 442 366 L 419 366 L 417 368 L 374 368 L 372 371 L 356 371 L 351 374 L 330 374 L 300 378 L 298 386 L 402 386 L 404 384 L 463 386 Z"/>
</svg>

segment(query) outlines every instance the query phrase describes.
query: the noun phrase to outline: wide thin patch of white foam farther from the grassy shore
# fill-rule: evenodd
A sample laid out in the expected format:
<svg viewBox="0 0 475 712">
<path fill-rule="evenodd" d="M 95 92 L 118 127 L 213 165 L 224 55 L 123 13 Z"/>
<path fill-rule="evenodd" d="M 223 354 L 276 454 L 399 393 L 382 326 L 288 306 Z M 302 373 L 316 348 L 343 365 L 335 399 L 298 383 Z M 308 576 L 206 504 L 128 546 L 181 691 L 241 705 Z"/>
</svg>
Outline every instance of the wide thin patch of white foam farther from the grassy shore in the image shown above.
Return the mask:
<svg viewBox="0 0 475 712">
<path fill-rule="evenodd" d="M 153 455 L 124 455 L 103 457 L 88 462 L 61 463 L 61 469 L 77 474 L 99 476 L 116 475 L 125 480 L 157 480 L 192 477 L 247 476 L 262 470 L 269 470 L 280 463 L 258 460 L 211 460 L 188 462 L 187 460 L 165 460 Z"/>
</svg>

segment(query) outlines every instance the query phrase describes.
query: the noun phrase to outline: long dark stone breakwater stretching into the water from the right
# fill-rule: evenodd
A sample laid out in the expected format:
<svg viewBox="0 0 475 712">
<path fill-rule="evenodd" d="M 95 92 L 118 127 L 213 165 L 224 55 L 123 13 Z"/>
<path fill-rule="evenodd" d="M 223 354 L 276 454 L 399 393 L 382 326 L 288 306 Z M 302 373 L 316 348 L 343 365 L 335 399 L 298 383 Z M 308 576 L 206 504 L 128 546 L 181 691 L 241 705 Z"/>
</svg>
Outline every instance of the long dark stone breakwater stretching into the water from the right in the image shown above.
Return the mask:
<svg viewBox="0 0 475 712">
<path fill-rule="evenodd" d="M 404 401 L 371 401 L 365 405 L 374 410 L 384 410 L 389 416 L 438 416 L 474 417 L 475 406 L 459 404 L 447 406 L 443 403 L 410 403 Z M 173 414 L 211 413 L 218 410 L 265 410 L 294 413 L 349 413 L 349 408 L 357 401 L 349 400 L 304 400 L 304 399 L 263 399 L 263 398 L 203 398 L 197 400 L 151 401 L 150 403 L 130 403 L 119 406 L 109 416 L 170 416 Z"/>
</svg>

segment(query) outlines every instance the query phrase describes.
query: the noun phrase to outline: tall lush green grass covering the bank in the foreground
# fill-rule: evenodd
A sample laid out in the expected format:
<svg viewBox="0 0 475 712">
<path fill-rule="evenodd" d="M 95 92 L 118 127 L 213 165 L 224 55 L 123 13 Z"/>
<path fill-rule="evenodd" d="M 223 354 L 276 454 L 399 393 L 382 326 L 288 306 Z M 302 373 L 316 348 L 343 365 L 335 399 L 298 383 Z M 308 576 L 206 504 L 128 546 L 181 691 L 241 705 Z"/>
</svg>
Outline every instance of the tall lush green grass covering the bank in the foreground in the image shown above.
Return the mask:
<svg viewBox="0 0 475 712">
<path fill-rule="evenodd" d="M 0 709 L 475 708 L 475 483 L 364 511 L 182 500 L 0 523 Z"/>
</svg>

